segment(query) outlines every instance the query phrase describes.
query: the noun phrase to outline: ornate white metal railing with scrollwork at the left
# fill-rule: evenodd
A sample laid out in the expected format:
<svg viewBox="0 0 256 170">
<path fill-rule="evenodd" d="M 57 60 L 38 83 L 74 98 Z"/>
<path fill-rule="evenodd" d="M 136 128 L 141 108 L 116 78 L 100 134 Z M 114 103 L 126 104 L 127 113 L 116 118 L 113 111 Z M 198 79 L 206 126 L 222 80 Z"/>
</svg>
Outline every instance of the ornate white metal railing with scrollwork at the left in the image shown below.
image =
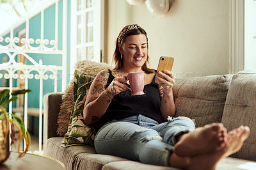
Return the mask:
<svg viewBox="0 0 256 170">
<path fill-rule="evenodd" d="M 48 1 L 49 2 L 49 1 Z M 54 39 L 48 40 L 44 38 L 44 11 L 52 4 L 55 4 L 55 30 Z M 63 0 L 63 25 L 62 25 L 62 49 L 58 49 L 58 21 L 59 21 L 59 0 L 51 1 L 48 4 L 42 4 L 42 8 L 38 12 L 33 12 L 33 15 L 28 15 L 24 22 L 26 22 L 26 38 L 19 38 L 13 36 L 15 26 L 10 27 L 10 36 L 0 36 L 0 55 L 4 55 L 7 58 L 5 63 L 0 63 L 0 80 L 8 79 L 10 91 L 13 91 L 13 80 L 24 80 L 24 88 L 28 89 L 29 79 L 35 79 L 40 81 L 38 87 L 38 98 L 39 98 L 39 137 L 38 137 L 38 151 L 34 153 L 42 155 L 42 116 L 43 116 L 43 86 L 54 86 L 54 92 L 57 91 L 58 86 L 58 75 L 61 73 L 61 89 L 64 91 L 67 84 L 67 0 Z M 41 24 L 38 29 L 41 30 L 40 38 L 33 39 L 29 38 L 29 20 L 41 13 Z M 22 23 L 21 23 L 22 24 Z M 23 45 L 17 45 L 17 44 Z M 33 44 L 33 45 L 32 45 Z M 36 45 L 37 46 L 36 46 Z M 50 47 L 49 47 L 50 46 Z M 59 54 L 61 55 L 62 64 L 58 65 L 43 65 L 42 59 L 36 62 L 30 54 Z M 19 63 L 15 59 L 17 56 L 22 55 L 27 61 L 31 62 L 31 65 Z M 53 84 L 44 84 L 44 80 L 51 79 Z M 24 124 L 25 128 L 28 128 L 28 94 L 24 95 Z M 9 112 L 12 112 L 12 103 L 9 105 Z M 25 144 L 25 143 L 24 143 Z"/>
</svg>

